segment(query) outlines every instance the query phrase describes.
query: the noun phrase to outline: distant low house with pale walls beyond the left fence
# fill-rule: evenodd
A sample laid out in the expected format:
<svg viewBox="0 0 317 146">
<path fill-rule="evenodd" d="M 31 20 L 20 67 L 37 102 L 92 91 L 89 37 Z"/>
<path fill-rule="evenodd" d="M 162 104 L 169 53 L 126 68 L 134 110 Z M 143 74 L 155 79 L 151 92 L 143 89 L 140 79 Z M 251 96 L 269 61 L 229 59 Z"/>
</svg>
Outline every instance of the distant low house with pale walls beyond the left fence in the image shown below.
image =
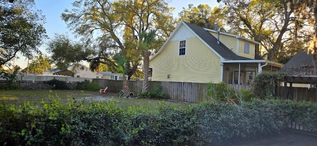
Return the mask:
<svg viewBox="0 0 317 146">
<path fill-rule="evenodd" d="M 102 75 L 91 71 L 84 65 L 69 65 L 65 69 L 51 69 L 42 73 L 43 75 L 62 75 L 78 78 L 101 78 Z"/>
</svg>

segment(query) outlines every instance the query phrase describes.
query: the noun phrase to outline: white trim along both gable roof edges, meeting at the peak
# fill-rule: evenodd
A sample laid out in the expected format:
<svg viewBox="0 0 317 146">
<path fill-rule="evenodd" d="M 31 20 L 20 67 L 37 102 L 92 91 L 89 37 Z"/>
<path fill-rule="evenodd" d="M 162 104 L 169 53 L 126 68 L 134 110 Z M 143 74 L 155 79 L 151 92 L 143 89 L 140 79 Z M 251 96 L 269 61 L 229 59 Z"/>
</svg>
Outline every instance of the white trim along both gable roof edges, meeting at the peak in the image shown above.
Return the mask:
<svg viewBox="0 0 317 146">
<path fill-rule="evenodd" d="M 175 28 L 175 30 L 172 32 L 172 34 L 168 37 L 168 39 L 164 42 L 164 44 L 162 45 L 162 47 L 159 49 L 159 51 L 154 54 L 151 58 L 153 59 L 154 57 L 156 57 L 159 52 L 161 51 L 161 49 L 164 48 L 164 46 L 167 44 L 167 42 L 170 40 L 170 38 L 173 37 L 173 35 L 175 34 L 175 32 L 178 30 L 178 28 L 181 26 L 181 24 L 183 24 L 187 29 L 189 29 L 200 41 L 202 41 L 209 49 L 211 49 L 211 51 L 213 51 L 218 57 L 220 57 L 220 60 L 223 60 L 224 58 L 218 53 L 216 52 L 214 49 L 211 48 L 211 46 L 209 46 L 201 37 L 199 37 L 192 29 L 189 28 L 189 26 L 187 26 L 184 21 L 182 20 L 178 25 L 177 27 Z"/>
</svg>

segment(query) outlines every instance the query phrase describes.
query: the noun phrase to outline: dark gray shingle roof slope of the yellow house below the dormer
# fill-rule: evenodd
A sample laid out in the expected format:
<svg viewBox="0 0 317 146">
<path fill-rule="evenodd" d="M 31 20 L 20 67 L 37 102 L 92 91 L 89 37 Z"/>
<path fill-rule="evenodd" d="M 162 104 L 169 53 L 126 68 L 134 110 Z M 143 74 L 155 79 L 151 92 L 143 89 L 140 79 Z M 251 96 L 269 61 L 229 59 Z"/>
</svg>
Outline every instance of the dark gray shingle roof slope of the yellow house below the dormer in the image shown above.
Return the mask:
<svg viewBox="0 0 317 146">
<path fill-rule="evenodd" d="M 246 57 L 241 57 L 235 54 L 233 51 L 231 51 L 228 47 L 226 47 L 224 44 L 217 43 L 217 38 L 211 35 L 207 30 L 205 30 L 203 27 L 199 27 L 196 25 L 193 25 L 191 23 L 183 21 L 191 30 L 193 30 L 202 40 L 204 40 L 212 49 L 214 49 L 219 55 L 221 55 L 224 59 L 228 60 L 253 60 Z M 263 60 L 263 58 L 259 55 L 256 55 L 256 60 Z"/>
</svg>

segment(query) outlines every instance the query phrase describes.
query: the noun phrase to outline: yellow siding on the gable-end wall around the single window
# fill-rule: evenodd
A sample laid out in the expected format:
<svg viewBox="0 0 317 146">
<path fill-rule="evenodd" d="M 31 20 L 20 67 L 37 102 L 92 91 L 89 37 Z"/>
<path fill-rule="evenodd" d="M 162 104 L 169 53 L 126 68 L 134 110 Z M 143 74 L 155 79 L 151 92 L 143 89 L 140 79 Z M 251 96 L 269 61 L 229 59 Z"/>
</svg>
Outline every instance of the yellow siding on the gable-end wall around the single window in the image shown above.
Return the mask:
<svg viewBox="0 0 317 146">
<path fill-rule="evenodd" d="M 178 56 L 178 41 L 169 41 L 160 53 L 150 60 L 153 81 L 219 83 L 220 58 L 198 38 L 186 39 L 186 55 Z M 167 78 L 170 74 L 170 78 Z"/>
</svg>

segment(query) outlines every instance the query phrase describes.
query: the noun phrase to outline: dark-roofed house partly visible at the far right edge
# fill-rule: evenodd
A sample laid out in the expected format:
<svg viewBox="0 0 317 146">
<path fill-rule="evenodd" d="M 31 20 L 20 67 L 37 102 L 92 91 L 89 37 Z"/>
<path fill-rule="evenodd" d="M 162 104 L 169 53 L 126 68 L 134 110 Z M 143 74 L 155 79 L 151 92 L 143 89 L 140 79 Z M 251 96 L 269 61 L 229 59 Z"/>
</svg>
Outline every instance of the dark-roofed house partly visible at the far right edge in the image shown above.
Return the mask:
<svg viewBox="0 0 317 146">
<path fill-rule="evenodd" d="M 317 54 L 297 52 L 279 71 L 286 73 L 287 86 L 317 87 Z"/>
</svg>

